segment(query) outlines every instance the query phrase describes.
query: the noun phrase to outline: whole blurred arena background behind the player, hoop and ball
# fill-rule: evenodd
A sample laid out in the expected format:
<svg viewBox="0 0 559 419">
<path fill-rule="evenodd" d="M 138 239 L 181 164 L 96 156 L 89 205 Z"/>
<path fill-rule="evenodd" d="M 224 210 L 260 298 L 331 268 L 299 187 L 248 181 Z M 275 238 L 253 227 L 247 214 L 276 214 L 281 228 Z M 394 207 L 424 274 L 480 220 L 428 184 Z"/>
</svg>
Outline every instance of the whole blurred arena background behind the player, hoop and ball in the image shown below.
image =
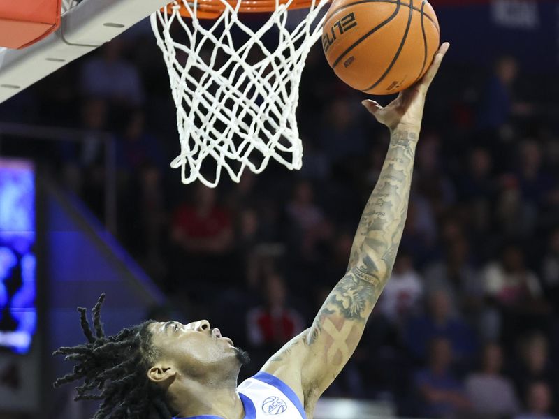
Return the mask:
<svg viewBox="0 0 559 419">
<path fill-rule="evenodd" d="M 557 417 L 559 4 L 432 3 L 451 51 L 399 257 L 316 418 Z M 0 105 L 2 419 L 91 417 L 52 389 L 71 365 L 50 353 L 83 341 L 75 307 L 101 292 L 108 332 L 208 318 L 252 354 L 242 379 L 344 273 L 388 143 L 363 95 L 315 45 L 303 169 L 184 186 L 160 55 L 140 22 Z"/>
</svg>

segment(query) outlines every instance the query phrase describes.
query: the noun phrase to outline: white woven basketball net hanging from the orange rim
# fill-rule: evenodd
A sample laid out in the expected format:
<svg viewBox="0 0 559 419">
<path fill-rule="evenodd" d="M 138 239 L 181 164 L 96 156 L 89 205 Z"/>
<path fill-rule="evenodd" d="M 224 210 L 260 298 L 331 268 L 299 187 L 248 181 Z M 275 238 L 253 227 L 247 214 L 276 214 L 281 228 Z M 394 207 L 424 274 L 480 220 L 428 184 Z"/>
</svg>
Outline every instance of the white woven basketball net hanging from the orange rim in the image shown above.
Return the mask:
<svg viewBox="0 0 559 419">
<path fill-rule="evenodd" d="M 198 19 L 198 1 L 175 1 L 167 13 L 151 17 L 177 107 L 181 151 L 171 167 L 181 168 L 183 183 L 200 179 L 210 187 L 223 170 L 239 182 L 246 168 L 260 173 L 270 159 L 300 169 L 299 82 L 329 0 L 312 0 L 295 23 L 287 10 L 293 0 L 275 0 L 263 24 L 241 22 L 245 0 L 220 0 L 224 13 Z M 181 6 L 192 17 L 183 17 Z M 289 11 L 298 17 L 302 12 Z"/>
</svg>

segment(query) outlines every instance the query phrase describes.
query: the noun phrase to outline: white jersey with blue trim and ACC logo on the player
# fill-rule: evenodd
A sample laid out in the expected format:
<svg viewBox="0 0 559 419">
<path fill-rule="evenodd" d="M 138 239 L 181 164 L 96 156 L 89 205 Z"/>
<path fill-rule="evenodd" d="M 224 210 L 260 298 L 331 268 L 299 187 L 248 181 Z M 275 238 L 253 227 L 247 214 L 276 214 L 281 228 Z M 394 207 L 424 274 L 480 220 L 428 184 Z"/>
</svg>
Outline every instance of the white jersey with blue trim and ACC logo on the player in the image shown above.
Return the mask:
<svg viewBox="0 0 559 419">
<path fill-rule="evenodd" d="M 293 390 L 279 378 L 259 372 L 237 388 L 245 419 L 306 419 L 305 409 Z M 180 419 L 180 418 L 173 418 Z M 182 419 L 224 419 L 214 415 Z"/>
</svg>

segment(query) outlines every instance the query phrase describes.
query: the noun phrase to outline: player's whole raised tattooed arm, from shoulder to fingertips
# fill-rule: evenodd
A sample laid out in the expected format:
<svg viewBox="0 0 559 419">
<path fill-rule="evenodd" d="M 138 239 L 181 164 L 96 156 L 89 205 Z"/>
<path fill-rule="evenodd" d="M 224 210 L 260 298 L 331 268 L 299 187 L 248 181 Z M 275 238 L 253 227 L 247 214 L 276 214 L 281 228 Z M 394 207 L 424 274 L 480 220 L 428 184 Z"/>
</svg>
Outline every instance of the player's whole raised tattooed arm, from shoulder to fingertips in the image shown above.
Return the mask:
<svg viewBox="0 0 559 419">
<path fill-rule="evenodd" d="M 390 128 L 391 140 L 379 181 L 363 211 L 347 272 L 326 298 L 312 326 L 291 339 L 263 368 L 298 392 L 309 416 L 319 396 L 354 353 L 391 274 L 406 219 L 425 96 L 448 47 L 447 43 L 442 45 L 421 82 L 403 91 L 386 108 L 374 101 L 363 102 Z"/>
</svg>

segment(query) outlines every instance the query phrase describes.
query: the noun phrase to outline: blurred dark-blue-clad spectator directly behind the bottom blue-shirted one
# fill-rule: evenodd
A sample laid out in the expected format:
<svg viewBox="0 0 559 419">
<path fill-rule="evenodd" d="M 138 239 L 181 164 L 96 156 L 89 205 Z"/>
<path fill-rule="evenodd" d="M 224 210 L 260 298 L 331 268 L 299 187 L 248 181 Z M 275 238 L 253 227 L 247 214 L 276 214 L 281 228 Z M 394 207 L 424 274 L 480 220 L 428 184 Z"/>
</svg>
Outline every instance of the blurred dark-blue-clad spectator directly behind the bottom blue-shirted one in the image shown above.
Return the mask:
<svg viewBox="0 0 559 419">
<path fill-rule="evenodd" d="M 425 362 L 428 346 L 435 338 L 451 344 L 454 360 L 468 365 L 477 350 L 477 337 L 463 321 L 453 315 L 451 300 L 442 289 L 428 295 L 427 314 L 412 318 L 405 326 L 405 341 L 415 360 Z"/>
</svg>

